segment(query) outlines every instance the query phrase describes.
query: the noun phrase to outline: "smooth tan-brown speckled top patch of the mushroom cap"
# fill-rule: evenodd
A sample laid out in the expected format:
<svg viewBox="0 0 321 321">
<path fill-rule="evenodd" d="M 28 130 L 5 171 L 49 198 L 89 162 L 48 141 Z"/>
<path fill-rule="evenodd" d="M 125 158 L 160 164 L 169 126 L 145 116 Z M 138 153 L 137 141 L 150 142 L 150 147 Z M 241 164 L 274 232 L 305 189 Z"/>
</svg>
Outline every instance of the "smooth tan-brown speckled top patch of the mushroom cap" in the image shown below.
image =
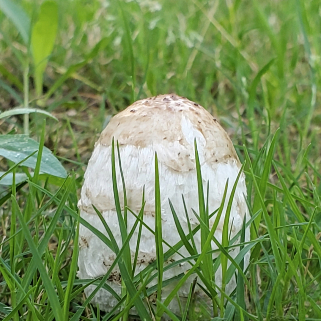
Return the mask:
<svg viewBox="0 0 321 321">
<path fill-rule="evenodd" d="M 203 151 L 201 162 L 235 160 L 240 164 L 230 137 L 217 120 L 201 105 L 174 94 L 138 100 L 118 113 L 101 133 L 99 143 L 109 146 L 113 137 L 120 146 L 154 146 L 159 160 L 176 171 L 195 168 L 194 137 L 199 152 Z M 167 155 L 162 155 L 164 150 Z"/>
</svg>

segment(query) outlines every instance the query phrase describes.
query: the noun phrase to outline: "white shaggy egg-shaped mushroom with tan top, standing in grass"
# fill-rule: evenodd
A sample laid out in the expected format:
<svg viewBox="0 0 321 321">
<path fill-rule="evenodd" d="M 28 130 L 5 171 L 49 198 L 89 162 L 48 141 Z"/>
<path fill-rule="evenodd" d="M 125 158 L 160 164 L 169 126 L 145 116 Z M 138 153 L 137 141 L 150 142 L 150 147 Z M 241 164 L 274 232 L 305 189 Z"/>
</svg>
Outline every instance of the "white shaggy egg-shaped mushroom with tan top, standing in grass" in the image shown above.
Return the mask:
<svg viewBox="0 0 321 321">
<path fill-rule="evenodd" d="M 81 217 L 106 234 L 106 230 L 92 205 L 100 211 L 112 230 L 119 247 L 121 247 L 121 234 L 115 208 L 111 170 L 113 137 L 115 142 L 118 141 L 119 143 L 126 185 L 127 206 L 138 213 L 142 206 L 142 194 L 143 188 L 145 188 L 146 204 L 143 221 L 153 230 L 155 228 L 154 157 L 155 152 L 157 152 L 160 173 L 162 234 L 163 239 L 172 246 L 180 240 L 180 237 L 170 210 L 169 199 L 175 207 L 178 219 L 186 234 L 188 234 L 188 225 L 181 195 L 184 196 L 192 228 L 199 224 L 191 211 L 192 208 L 198 209 L 194 140 L 196 139 L 197 142 L 205 191 L 207 181 L 209 181 L 208 206 L 210 213 L 220 207 L 227 179 L 229 179 L 229 186 L 226 199 L 229 199 L 232 186 L 241 168 L 241 163 L 229 136 L 218 121 L 199 104 L 174 94 L 159 95 L 136 101 L 114 116 L 101 133 L 84 175 L 84 184 L 78 203 Z M 117 152 L 115 158 L 117 164 Z M 124 204 L 123 187 L 118 167 L 116 176 L 120 204 Z M 245 202 L 246 193 L 245 175 L 242 173 L 230 212 L 229 233 L 231 239 L 242 229 L 244 217 L 246 221 L 249 220 Z M 225 202 L 225 208 L 226 203 L 227 201 Z M 225 210 L 214 234 L 220 242 L 224 213 Z M 215 216 L 210 219 L 210 228 L 214 219 Z M 127 228 L 130 230 L 136 218 L 128 213 L 127 220 Z M 129 243 L 132 260 L 136 250 L 137 235 L 138 229 L 135 230 Z M 79 236 L 79 278 L 92 279 L 106 274 L 115 260 L 116 254 L 84 226 L 80 227 Z M 195 234 L 194 239 L 200 253 L 201 239 L 199 232 Z M 247 228 L 245 240 L 249 241 L 249 239 L 250 232 Z M 239 239 L 236 243 L 239 243 Z M 215 248 L 217 247 L 213 243 L 212 249 Z M 164 245 L 164 252 L 166 250 L 167 247 Z M 180 252 L 186 257 L 189 256 L 184 248 L 181 248 Z M 239 247 L 237 246 L 230 251 L 233 258 L 238 253 Z M 214 253 L 213 258 L 217 255 L 218 253 Z M 143 227 L 135 273 L 142 271 L 155 259 L 155 237 Z M 181 257 L 175 254 L 170 258 L 170 261 L 173 262 L 178 259 L 181 259 Z M 244 258 L 244 266 L 247 267 L 248 263 L 249 253 Z M 164 272 L 164 279 L 186 273 L 189 269 L 188 263 L 177 265 L 175 268 Z M 219 268 L 215 274 L 215 283 L 219 287 L 222 283 L 221 274 Z M 192 276 L 191 279 L 188 279 L 190 282 L 186 282 L 179 290 L 179 297 L 187 297 L 191 280 L 194 278 L 195 276 Z M 110 274 L 107 283 L 120 295 L 121 275 L 118 266 Z M 226 286 L 226 293 L 231 293 L 235 285 L 235 278 L 232 278 Z M 162 297 L 166 298 L 174 286 L 175 282 L 172 282 L 164 287 Z M 94 288 L 94 285 L 89 286 L 86 288 L 85 294 L 88 296 Z M 195 291 L 199 296 L 205 298 L 205 293 L 199 287 L 196 286 Z M 100 309 L 105 311 L 110 311 L 117 304 L 113 295 L 104 289 L 97 292 L 92 302 L 99 303 Z M 175 313 L 179 311 L 178 304 L 174 300 L 169 308 Z"/>
</svg>

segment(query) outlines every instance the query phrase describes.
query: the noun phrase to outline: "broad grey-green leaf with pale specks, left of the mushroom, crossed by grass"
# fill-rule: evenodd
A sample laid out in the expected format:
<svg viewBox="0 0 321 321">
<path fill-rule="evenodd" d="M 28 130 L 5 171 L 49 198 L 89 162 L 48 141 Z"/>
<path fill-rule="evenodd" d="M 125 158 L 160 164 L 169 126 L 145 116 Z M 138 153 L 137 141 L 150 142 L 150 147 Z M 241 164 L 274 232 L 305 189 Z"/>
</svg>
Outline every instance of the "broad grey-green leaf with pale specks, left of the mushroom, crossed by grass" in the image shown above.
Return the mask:
<svg viewBox="0 0 321 321">
<path fill-rule="evenodd" d="M 38 151 L 39 143 L 29 138 L 27 135 L 0 135 L 0 155 L 18 163 L 31 153 Z M 37 153 L 25 160 L 24 166 L 35 169 Z M 59 160 L 47 148 L 43 148 L 40 171 L 45 174 L 65 178 L 67 173 Z"/>
</svg>

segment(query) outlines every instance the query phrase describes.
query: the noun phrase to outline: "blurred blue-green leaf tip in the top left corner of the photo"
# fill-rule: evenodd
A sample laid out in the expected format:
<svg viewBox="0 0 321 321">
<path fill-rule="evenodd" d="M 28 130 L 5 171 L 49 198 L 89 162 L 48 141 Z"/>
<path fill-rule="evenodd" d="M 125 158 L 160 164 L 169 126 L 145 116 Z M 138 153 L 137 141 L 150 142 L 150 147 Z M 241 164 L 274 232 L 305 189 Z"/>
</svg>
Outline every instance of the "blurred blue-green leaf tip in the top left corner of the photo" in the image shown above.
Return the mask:
<svg viewBox="0 0 321 321">
<path fill-rule="evenodd" d="M 13 22 L 23 41 L 29 43 L 30 18 L 19 4 L 11 0 L 0 0 L 0 10 Z"/>
</svg>

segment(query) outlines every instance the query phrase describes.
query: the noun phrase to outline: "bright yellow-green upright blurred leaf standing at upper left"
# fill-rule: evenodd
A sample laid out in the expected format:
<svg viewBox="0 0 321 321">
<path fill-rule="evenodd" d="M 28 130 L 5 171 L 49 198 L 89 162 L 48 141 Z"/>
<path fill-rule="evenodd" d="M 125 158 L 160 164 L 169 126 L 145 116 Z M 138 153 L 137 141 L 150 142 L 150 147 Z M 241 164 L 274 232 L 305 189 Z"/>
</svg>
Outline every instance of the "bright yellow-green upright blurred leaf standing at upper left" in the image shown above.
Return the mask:
<svg viewBox="0 0 321 321">
<path fill-rule="evenodd" d="M 43 73 L 54 48 L 58 28 L 58 5 L 46 1 L 41 5 L 39 18 L 32 28 L 31 51 L 35 64 L 36 93 L 42 94 Z"/>
</svg>

